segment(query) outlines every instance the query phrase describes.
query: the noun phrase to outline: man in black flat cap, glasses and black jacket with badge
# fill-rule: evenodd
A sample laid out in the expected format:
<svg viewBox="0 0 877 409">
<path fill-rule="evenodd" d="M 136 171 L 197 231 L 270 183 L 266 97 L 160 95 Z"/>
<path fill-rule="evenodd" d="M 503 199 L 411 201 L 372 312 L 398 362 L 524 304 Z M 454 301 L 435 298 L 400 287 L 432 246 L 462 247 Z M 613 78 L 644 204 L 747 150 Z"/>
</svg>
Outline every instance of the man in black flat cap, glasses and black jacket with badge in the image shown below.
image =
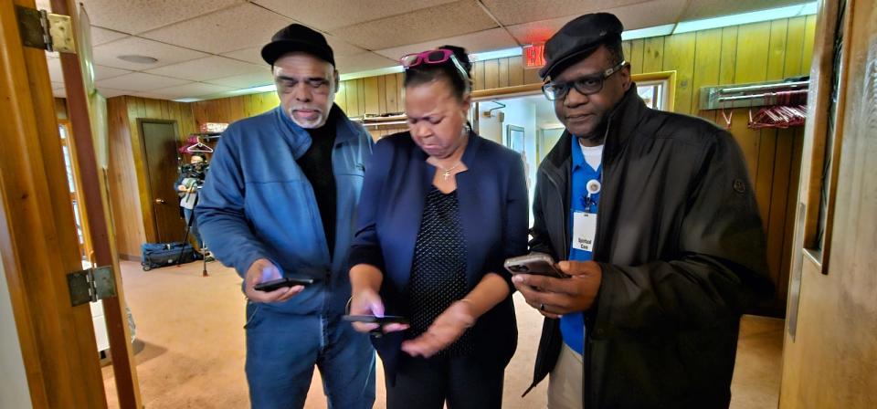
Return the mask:
<svg viewBox="0 0 877 409">
<path fill-rule="evenodd" d="M 512 278 L 546 317 L 534 385 L 553 409 L 727 407 L 740 316 L 772 290 L 752 184 L 730 133 L 639 99 L 622 30 L 591 14 L 545 44 L 566 131 L 530 248 L 572 277 Z"/>
</svg>

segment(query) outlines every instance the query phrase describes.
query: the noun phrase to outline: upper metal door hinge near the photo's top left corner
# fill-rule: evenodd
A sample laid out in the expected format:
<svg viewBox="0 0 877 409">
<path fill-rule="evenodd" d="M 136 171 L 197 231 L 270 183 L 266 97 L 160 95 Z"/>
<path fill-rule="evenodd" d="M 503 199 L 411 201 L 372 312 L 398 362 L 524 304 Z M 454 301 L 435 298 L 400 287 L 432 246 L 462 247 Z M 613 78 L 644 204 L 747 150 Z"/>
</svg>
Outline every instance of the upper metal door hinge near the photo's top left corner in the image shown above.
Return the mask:
<svg viewBox="0 0 877 409">
<path fill-rule="evenodd" d="M 70 16 L 53 15 L 22 5 L 16 5 L 16 16 L 21 42 L 26 47 L 76 54 Z"/>
</svg>

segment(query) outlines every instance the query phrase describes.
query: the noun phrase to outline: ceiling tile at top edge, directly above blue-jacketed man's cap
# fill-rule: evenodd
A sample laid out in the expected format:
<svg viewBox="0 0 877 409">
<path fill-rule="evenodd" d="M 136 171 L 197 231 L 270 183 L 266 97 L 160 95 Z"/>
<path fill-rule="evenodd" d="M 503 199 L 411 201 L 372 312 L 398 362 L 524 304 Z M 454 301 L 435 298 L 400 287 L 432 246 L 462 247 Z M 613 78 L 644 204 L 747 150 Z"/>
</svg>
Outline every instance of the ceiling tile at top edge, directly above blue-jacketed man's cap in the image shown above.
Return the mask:
<svg viewBox="0 0 877 409">
<path fill-rule="evenodd" d="M 253 0 L 283 16 L 323 31 L 353 26 L 366 21 L 409 13 L 456 0 L 322 0 L 315 7 L 311 0 Z"/>
</svg>

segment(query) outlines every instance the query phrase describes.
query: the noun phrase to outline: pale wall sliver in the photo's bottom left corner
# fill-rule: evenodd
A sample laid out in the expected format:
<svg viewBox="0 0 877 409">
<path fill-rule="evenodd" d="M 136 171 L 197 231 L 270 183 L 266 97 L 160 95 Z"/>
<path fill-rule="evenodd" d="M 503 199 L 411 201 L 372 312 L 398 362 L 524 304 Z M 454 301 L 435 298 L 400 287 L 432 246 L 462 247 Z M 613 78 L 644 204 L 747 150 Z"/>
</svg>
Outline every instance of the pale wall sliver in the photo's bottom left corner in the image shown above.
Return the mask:
<svg viewBox="0 0 877 409">
<path fill-rule="evenodd" d="M 9 299 L 9 286 L 3 262 L 0 260 L 0 408 L 29 408 L 30 390 L 27 388 L 25 362 L 21 358 L 21 345 L 18 343 L 18 330 Z"/>
</svg>

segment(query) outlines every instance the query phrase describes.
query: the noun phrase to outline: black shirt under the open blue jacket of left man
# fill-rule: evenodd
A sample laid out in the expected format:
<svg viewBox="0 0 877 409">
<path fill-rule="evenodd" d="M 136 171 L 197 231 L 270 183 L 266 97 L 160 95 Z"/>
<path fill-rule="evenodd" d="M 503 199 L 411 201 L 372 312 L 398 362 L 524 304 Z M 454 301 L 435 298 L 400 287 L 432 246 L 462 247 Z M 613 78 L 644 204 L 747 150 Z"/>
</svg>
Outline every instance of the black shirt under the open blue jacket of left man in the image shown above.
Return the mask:
<svg viewBox="0 0 877 409">
<path fill-rule="evenodd" d="M 332 151 L 335 143 L 336 115 L 334 111 L 329 114 L 329 119 L 321 128 L 305 130 L 311 135 L 311 147 L 304 152 L 296 162 L 301 167 L 301 172 L 307 176 L 313 187 L 313 194 L 317 197 L 317 207 L 320 209 L 322 219 L 322 231 L 326 236 L 326 244 L 329 245 L 329 257 L 333 257 L 335 246 L 335 218 L 337 215 L 335 202 L 335 173 L 332 167 Z"/>
</svg>

